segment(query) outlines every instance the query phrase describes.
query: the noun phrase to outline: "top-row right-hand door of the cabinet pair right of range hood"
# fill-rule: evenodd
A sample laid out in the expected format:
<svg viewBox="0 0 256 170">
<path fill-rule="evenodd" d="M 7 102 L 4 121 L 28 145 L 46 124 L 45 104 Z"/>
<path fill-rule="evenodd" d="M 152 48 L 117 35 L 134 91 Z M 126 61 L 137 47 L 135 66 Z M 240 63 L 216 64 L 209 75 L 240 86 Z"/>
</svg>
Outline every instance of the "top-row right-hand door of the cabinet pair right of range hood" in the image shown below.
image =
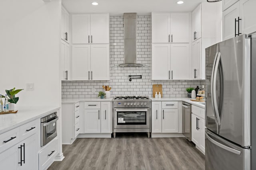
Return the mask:
<svg viewBox="0 0 256 170">
<path fill-rule="evenodd" d="M 189 43 L 189 14 L 171 14 L 171 42 Z"/>
</svg>

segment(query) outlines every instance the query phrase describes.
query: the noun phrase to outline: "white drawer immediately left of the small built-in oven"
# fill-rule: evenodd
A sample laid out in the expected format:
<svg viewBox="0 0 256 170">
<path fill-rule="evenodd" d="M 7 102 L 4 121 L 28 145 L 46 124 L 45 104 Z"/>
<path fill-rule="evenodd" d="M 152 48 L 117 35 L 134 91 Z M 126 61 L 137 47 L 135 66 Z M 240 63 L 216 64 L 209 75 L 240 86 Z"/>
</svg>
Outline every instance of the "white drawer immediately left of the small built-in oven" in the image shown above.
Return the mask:
<svg viewBox="0 0 256 170">
<path fill-rule="evenodd" d="M 39 122 L 38 122 L 39 124 Z M 38 125 L 35 121 L 26 123 L 25 125 L 22 125 L 20 127 L 20 141 L 22 141 L 23 139 L 26 139 L 27 137 L 35 134 L 37 131 L 39 131 L 38 129 Z"/>
</svg>

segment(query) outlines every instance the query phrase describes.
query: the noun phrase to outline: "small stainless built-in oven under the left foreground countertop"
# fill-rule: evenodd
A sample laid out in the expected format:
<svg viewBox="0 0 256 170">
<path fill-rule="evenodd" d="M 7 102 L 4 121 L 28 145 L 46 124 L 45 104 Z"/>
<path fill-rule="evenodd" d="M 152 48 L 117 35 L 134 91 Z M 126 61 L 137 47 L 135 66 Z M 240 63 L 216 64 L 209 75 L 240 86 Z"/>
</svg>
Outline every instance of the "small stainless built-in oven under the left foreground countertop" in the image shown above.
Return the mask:
<svg viewBox="0 0 256 170">
<path fill-rule="evenodd" d="M 57 136 L 57 112 L 41 118 L 41 147 Z"/>
</svg>

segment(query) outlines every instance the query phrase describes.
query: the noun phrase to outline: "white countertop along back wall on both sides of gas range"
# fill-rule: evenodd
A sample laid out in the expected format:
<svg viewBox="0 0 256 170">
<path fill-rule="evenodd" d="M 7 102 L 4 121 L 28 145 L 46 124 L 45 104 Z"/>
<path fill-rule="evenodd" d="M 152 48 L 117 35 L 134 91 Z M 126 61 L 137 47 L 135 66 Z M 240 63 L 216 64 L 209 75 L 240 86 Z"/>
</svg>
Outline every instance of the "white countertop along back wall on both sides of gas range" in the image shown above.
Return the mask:
<svg viewBox="0 0 256 170">
<path fill-rule="evenodd" d="M 77 103 L 77 102 L 111 102 L 113 97 L 111 98 L 63 98 L 62 103 Z M 194 102 L 191 101 L 191 98 L 161 98 L 161 99 L 155 99 L 151 98 L 152 102 L 154 101 L 184 101 L 190 104 L 193 104 L 195 106 L 201 107 L 204 109 L 203 102 Z"/>
</svg>

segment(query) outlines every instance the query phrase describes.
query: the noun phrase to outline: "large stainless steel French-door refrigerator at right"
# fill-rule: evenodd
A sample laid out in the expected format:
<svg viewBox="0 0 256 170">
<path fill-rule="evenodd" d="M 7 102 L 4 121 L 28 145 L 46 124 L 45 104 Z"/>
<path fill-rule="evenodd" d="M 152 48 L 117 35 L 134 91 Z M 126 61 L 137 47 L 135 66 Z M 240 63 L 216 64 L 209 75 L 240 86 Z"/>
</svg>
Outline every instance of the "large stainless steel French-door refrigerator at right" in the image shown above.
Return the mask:
<svg viewBox="0 0 256 170">
<path fill-rule="evenodd" d="M 206 170 L 256 170 L 256 35 L 206 49 Z"/>
</svg>

